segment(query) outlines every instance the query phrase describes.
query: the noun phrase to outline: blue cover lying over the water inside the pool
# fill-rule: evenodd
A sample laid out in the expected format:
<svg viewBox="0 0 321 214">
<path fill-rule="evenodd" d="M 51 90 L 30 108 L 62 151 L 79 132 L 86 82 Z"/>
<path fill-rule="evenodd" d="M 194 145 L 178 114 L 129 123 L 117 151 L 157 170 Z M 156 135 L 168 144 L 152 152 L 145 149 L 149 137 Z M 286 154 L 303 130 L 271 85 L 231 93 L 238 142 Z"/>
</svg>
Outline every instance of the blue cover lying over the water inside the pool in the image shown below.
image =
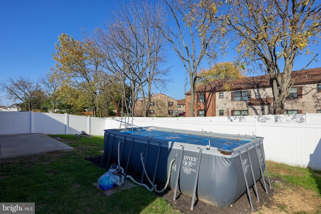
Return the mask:
<svg viewBox="0 0 321 214">
<path fill-rule="evenodd" d="M 221 149 L 226 149 L 226 150 L 234 149 L 250 142 L 247 140 L 227 139 L 227 138 L 213 137 L 208 135 L 195 135 L 195 134 L 158 131 L 158 130 L 125 131 L 123 132 L 123 134 L 138 135 L 146 138 L 190 143 L 190 144 L 203 145 L 203 146 L 208 145 L 210 142 L 211 146 L 221 148 Z"/>
</svg>

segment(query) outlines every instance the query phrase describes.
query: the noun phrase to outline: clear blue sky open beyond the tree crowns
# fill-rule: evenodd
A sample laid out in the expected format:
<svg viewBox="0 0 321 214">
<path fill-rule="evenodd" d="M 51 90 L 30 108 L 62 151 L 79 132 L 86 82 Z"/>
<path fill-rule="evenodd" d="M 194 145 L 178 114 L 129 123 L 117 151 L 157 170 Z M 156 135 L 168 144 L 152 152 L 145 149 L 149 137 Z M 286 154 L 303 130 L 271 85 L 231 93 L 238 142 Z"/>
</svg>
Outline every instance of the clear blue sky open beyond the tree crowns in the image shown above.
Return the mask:
<svg viewBox="0 0 321 214">
<path fill-rule="evenodd" d="M 58 36 L 66 33 L 81 40 L 80 29 L 92 32 L 102 27 L 109 13 L 118 3 L 117 0 L 2 0 L 0 2 L 0 81 L 9 77 L 29 76 L 37 79 L 55 66 L 52 54 Z M 321 51 L 318 47 L 310 51 L 319 53 L 319 62 L 313 62 L 308 68 L 321 67 Z M 169 53 L 171 77 L 168 91 L 158 91 L 174 99 L 185 98 L 185 70 L 173 53 Z M 175 56 L 175 57 L 172 57 Z M 294 70 L 301 69 L 311 59 L 304 56 L 296 59 Z M 221 61 L 233 61 L 233 58 L 221 58 Z M 190 87 L 187 87 L 187 91 Z M 0 92 L 0 104 L 11 105 Z"/>
</svg>

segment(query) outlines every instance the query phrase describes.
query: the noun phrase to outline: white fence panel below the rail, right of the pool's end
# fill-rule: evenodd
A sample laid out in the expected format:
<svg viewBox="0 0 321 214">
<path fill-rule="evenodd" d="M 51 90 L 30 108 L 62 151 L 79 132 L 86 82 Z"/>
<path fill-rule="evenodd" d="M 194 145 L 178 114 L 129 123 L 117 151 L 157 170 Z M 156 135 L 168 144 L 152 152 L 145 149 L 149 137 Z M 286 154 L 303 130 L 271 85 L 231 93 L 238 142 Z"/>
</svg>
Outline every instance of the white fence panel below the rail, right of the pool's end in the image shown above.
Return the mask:
<svg viewBox="0 0 321 214">
<path fill-rule="evenodd" d="M 321 125 L 260 123 L 268 160 L 321 169 Z"/>
</svg>

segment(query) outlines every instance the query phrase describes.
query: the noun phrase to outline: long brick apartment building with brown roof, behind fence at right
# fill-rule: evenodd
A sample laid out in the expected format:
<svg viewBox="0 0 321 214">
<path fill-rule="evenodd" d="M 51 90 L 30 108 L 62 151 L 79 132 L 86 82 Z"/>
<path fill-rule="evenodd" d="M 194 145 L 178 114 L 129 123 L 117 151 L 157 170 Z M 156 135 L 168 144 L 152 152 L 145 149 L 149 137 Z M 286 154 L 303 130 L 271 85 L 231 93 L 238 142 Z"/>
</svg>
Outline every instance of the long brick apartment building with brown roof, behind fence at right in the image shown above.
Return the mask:
<svg viewBox="0 0 321 214">
<path fill-rule="evenodd" d="M 292 78 L 298 71 L 293 71 Z M 215 80 L 196 88 L 194 116 L 273 114 L 274 103 L 268 75 L 234 81 Z M 226 85 L 229 91 L 226 90 Z M 284 114 L 321 113 L 321 68 L 299 72 L 285 101 Z M 186 93 L 186 116 L 191 92 Z"/>
</svg>

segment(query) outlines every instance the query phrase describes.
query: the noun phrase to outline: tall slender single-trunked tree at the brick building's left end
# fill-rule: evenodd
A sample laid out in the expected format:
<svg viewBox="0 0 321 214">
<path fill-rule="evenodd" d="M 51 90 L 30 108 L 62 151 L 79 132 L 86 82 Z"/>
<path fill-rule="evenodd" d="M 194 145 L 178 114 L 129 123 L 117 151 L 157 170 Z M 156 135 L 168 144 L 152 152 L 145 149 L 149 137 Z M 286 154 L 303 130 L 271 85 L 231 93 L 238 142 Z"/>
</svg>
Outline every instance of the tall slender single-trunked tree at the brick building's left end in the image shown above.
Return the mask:
<svg viewBox="0 0 321 214">
<path fill-rule="evenodd" d="M 197 70 L 204 57 L 215 58 L 215 47 L 220 37 L 215 15 L 220 1 L 164 0 L 173 19 L 167 25 L 158 26 L 172 45 L 189 74 L 191 101 L 189 115 L 193 116 Z M 174 26 L 171 24 L 174 22 Z"/>
</svg>

